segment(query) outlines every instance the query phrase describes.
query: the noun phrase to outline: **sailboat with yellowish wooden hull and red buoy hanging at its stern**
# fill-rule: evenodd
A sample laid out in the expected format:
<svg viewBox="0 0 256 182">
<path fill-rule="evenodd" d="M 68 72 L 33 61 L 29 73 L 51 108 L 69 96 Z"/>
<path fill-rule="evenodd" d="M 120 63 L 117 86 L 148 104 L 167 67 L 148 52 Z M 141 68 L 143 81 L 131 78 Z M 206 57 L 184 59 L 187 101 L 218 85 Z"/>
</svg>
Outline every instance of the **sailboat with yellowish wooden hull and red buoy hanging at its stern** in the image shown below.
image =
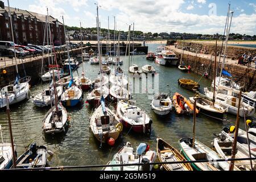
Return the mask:
<svg viewBox="0 0 256 182">
<path fill-rule="evenodd" d="M 105 107 L 104 97 L 101 97 L 101 105 L 90 117 L 90 129 L 94 137 L 101 143 L 108 143 L 109 140 L 117 140 L 122 131 L 122 123 L 112 110 Z"/>
</svg>

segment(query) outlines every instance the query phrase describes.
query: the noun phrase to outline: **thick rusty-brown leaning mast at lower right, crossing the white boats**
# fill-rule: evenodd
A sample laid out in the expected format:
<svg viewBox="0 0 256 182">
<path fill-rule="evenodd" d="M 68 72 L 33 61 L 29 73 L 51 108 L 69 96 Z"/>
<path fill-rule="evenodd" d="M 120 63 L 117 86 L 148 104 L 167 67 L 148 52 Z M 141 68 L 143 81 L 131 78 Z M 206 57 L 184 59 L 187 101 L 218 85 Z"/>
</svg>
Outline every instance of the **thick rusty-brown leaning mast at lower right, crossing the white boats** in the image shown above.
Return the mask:
<svg viewBox="0 0 256 182">
<path fill-rule="evenodd" d="M 242 95 L 242 90 L 240 90 L 239 93 L 239 101 L 238 101 L 238 108 L 237 108 L 237 121 L 236 121 L 236 131 L 234 133 L 234 140 L 233 140 L 233 146 L 232 146 L 232 155 L 231 159 L 236 158 L 236 150 L 237 150 L 237 135 L 238 135 L 238 130 L 239 130 L 239 124 L 240 124 L 240 104 L 241 104 L 241 95 Z M 234 160 L 230 162 L 229 165 L 229 171 L 233 171 L 234 169 Z"/>
</svg>

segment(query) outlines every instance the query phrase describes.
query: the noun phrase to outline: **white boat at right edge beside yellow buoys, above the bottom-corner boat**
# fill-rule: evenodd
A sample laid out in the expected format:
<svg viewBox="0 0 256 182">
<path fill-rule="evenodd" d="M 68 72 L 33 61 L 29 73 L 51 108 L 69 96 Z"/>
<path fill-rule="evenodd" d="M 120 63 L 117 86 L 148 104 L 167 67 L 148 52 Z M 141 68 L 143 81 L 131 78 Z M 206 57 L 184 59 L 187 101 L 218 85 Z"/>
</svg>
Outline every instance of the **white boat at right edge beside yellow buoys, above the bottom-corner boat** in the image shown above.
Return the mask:
<svg viewBox="0 0 256 182">
<path fill-rule="evenodd" d="M 229 133 L 229 129 L 226 127 L 221 131 L 226 138 L 230 139 L 232 142 L 234 140 L 234 133 Z M 256 137 L 248 133 L 249 143 L 250 143 L 250 152 L 252 156 L 256 156 Z M 237 148 L 246 154 L 249 154 L 249 147 L 247 143 L 247 134 L 246 131 L 239 129 L 237 135 Z"/>
</svg>

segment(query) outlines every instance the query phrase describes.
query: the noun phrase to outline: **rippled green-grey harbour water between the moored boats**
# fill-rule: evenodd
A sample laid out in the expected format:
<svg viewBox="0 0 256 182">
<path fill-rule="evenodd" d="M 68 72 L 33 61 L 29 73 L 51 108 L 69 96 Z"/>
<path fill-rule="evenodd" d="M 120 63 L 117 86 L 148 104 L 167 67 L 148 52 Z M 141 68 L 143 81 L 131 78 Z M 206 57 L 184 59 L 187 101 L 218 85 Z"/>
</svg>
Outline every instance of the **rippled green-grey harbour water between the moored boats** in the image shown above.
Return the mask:
<svg viewBox="0 0 256 182">
<path fill-rule="evenodd" d="M 160 44 L 148 44 L 148 51 L 155 51 L 155 48 Z M 128 57 L 122 56 L 123 67 L 128 68 Z M 133 62 L 132 62 L 133 63 Z M 198 81 L 201 76 L 193 73 L 180 72 L 176 67 L 164 67 L 156 65 L 154 61 L 146 60 L 146 55 L 134 56 L 134 63 L 142 67 L 145 64 L 151 64 L 159 73 L 159 91 L 168 93 L 171 91 L 183 94 L 185 97 L 194 96 L 195 93 L 180 88 L 177 84 L 177 79 L 187 77 Z M 112 67 L 112 65 L 110 65 Z M 98 76 L 99 65 L 89 64 L 84 62 L 85 75 L 92 80 Z M 81 75 L 82 67 L 78 69 Z M 74 73 L 74 76 L 77 72 Z M 200 80 L 200 92 L 205 86 L 209 87 L 212 81 L 206 78 Z M 167 84 L 169 86 L 167 86 Z M 38 84 L 32 86 L 31 96 L 35 96 L 42 89 L 47 88 L 49 84 Z M 16 150 L 18 156 L 23 154 L 25 147 L 31 142 L 43 144 L 51 150 L 54 155 L 49 159 L 50 166 L 81 166 L 93 164 L 106 164 L 113 158 L 113 155 L 123 146 L 124 143 L 130 142 L 134 147 L 140 142 L 150 144 L 151 150 L 156 149 L 156 138 L 160 137 L 166 142 L 172 144 L 180 150 L 177 141 L 183 137 L 192 137 L 193 115 L 177 116 L 175 111 L 166 117 L 158 117 L 151 110 L 151 100 L 148 100 L 146 94 L 133 94 L 133 100 L 137 101 L 137 105 L 151 116 L 152 132 L 150 137 L 146 135 L 135 134 L 132 131 L 124 130 L 123 134 L 117 141 L 114 147 L 104 145 L 99 148 L 100 142 L 94 137 L 89 128 L 89 118 L 93 111 L 89 105 L 85 103 L 86 94 L 84 93 L 83 104 L 77 107 L 68 107 L 68 113 L 71 116 L 71 127 L 66 134 L 52 135 L 46 137 L 42 133 L 42 119 L 49 108 L 38 108 L 32 104 L 32 98 L 26 102 L 11 106 L 11 122 L 15 137 Z M 229 126 L 236 121 L 235 115 L 228 114 L 228 121 L 225 123 L 218 122 L 208 118 L 203 114 L 196 117 L 196 138 L 201 142 L 210 146 L 211 140 L 214 138 L 213 133 L 219 133 L 224 126 Z M 9 129 L 5 110 L 0 112 L 0 124 L 2 125 L 3 138 L 9 141 Z M 240 123 L 241 128 L 244 128 L 243 118 Z M 92 169 L 92 168 L 90 168 Z M 95 168 L 94 168 L 95 169 Z M 99 169 L 99 168 L 96 168 Z"/>
</svg>

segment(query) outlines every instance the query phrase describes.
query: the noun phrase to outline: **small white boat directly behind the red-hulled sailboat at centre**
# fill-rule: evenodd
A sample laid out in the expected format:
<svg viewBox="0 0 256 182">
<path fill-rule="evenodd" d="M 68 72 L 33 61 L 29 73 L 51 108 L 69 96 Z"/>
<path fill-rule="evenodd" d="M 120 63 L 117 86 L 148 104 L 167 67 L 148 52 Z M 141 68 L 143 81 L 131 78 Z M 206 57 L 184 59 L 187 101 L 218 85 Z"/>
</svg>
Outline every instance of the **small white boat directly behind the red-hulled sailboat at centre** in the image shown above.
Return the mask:
<svg viewBox="0 0 256 182">
<path fill-rule="evenodd" d="M 129 98 L 128 91 L 123 86 L 113 85 L 109 90 L 109 94 L 112 97 L 111 100 L 113 103 Z"/>
</svg>

